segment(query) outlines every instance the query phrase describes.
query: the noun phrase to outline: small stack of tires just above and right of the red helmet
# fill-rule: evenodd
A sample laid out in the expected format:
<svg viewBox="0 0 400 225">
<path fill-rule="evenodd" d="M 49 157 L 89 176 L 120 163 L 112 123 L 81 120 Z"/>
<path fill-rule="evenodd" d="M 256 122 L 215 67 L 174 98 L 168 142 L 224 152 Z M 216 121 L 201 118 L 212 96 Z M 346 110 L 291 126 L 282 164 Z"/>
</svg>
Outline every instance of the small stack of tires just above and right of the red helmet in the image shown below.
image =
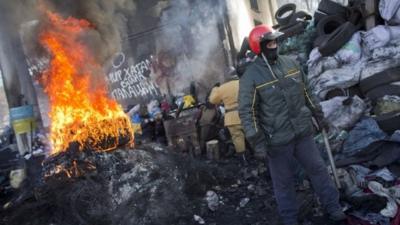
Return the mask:
<svg viewBox="0 0 400 225">
<path fill-rule="evenodd" d="M 274 28 L 284 33 L 281 38 L 286 39 L 303 33 L 307 26 L 307 21 L 311 20 L 312 17 L 304 11 L 296 11 L 296 5 L 289 3 L 281 6 L 276 11 L 275 19 L 278 24 Z"/>
</svg>

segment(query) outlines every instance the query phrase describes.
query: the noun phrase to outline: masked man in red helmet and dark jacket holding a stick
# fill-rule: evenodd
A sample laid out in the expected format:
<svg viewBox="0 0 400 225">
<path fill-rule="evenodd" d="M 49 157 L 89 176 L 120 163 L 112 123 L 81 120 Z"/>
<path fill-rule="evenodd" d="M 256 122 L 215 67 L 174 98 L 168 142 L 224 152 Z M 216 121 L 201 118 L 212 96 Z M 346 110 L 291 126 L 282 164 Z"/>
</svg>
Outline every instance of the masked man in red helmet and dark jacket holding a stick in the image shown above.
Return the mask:
<svg viewBox="0 0 400 225">
<path fill-rule="evenodd" d="M 239 114 L 246 138 L 257 158 L 268 159 L 284 224 L 298 224 L 293 175 L 296 161 L 311 179 L 330 218 L 344 220 L 338 190 L 312 137 L 312 113 L 325 127 L 323 113 L 306 92 L 299 66 L 277 54 L 280 35 L 265 25 L 256 26 L 249 35 L 250 48 L 258 57 L 240 79 Z"/>
</svg>

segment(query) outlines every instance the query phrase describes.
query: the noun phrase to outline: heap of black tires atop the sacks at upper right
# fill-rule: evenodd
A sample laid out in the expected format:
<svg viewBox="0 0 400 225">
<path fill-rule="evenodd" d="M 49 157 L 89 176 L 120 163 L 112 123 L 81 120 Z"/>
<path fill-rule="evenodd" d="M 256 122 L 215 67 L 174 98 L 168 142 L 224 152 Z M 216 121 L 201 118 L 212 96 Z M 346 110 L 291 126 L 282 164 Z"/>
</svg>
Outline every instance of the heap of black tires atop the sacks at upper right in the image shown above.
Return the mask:
<svg viewBox="0 0 400 225">
<path fill-rule="evenodd" d="M 358 3 L 357 3 L 358 2 Z M 314 14 L 318 47 L 322 56 L 329 56 L 345 45 L 355 32 L 363 26 L 365 10 L 361 1 L 343 6 L 332 0 L 322 0 Z"/>
</svg>

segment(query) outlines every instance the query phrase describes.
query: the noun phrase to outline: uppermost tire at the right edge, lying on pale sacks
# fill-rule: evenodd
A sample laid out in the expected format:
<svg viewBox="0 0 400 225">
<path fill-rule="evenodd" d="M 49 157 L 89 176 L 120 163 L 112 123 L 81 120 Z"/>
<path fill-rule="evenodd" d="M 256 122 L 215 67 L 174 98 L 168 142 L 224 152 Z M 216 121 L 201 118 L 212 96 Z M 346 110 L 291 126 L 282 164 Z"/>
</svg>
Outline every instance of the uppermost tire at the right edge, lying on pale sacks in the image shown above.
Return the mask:
<svg viewBox="0 0 400 225">
<path fill-rule="evenodd" d="M 360 81 L 360 89 L 367 93 L 375 87 L 400 81 L 400 67 L 390 68 Z"/>
</svg>

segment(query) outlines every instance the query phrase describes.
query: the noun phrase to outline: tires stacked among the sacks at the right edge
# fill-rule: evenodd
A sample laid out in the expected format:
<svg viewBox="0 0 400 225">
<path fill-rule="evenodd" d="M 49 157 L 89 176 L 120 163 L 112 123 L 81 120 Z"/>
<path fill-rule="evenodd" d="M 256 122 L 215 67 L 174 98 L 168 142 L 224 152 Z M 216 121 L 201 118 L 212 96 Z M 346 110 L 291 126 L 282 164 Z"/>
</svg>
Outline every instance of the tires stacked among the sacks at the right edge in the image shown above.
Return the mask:
<svg viewBox="0 0 400 225">
<path fill-rule="evenodd" d="M 400 96 L 400 67 L 369 76 L 361 80 L 359 87 L 362 94 L 371 100 L 373 106 L 385 95 Z M 383 131 L 393 133 L 400 128 L 400 111 L 376 115 L 375 120 Z"/>
</svg>

